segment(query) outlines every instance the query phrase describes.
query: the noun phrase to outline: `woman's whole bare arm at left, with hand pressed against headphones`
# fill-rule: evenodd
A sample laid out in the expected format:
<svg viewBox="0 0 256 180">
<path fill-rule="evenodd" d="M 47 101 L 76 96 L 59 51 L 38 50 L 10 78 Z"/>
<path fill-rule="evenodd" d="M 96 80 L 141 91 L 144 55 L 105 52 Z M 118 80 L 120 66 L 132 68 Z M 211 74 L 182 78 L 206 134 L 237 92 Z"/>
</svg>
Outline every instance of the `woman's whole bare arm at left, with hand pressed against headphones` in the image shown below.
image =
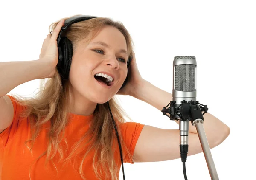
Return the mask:
<svg viewBox="0 0 256 180">
<path fill-rule="evenodd" d="M 63 23 L 62 19 L 52 35 L 48 34 L 44 39 L 39 60 L 0 63 L 0 133 L 12 123 L 14 113 L 12 101 L 6 94 L 25 82 L 55 75 L 58 64 L 56 39 Z"/>
</svg>

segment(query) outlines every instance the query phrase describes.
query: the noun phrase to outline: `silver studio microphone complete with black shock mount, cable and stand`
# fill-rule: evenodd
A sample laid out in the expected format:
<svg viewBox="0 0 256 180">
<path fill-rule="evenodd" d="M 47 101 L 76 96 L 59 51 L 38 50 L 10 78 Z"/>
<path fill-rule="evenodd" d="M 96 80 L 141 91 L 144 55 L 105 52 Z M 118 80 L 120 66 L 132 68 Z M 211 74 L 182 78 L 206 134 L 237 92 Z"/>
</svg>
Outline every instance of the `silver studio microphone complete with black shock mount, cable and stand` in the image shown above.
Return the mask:
<svg viewBox="0 0 256 180">
<path fill-rule="evenodd" d="M 213 180 L 218 180 L 218 174 L 203 127 L 203 115 L 207 113 L 208 107 L 196 101 L 196 68 L 195 56 L 174 57 L 172 101 L 166 107 L 163 107 L 162 113 L 168 116 L 170 120 L 180 121 L 180 157 L 183 162 L 185 180 L 187 180 L 185 163 L 189 149 L 189 121 L 198 132 L 210 175 Z M 170 107 L 168 107 L 169 105 Z"/>
</svg>

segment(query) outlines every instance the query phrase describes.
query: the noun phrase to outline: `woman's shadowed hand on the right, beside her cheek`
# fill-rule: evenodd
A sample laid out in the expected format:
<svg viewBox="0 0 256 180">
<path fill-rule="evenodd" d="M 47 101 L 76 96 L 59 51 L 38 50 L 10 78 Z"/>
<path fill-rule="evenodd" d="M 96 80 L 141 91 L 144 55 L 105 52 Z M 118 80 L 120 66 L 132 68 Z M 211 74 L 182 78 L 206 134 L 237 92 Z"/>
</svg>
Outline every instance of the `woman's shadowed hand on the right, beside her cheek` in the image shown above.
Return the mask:
<svg viewBox="0 0 256 180">
<path fill-rule="evenodd" d="M 135 53 L 132 55 L 130 67 L 128 68 L 128 80 L 125 86 L 119 90 L 118 95 L 130 95 L 133 96 L 137 90 L 139 90 L 140 84 L 144 81 L 141 77 L 136 63 Z"/>
</svg>

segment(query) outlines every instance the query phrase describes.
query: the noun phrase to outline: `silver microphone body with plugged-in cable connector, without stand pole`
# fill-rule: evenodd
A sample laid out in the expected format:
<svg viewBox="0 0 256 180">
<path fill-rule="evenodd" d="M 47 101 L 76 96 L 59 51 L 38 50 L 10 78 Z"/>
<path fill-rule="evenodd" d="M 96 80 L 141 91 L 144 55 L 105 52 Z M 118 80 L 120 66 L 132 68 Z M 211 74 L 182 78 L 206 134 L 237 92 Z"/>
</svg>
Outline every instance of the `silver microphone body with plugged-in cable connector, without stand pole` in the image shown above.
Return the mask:
<svg viewBox="0 0 256 180">
<path fill-rule="evenodd" d="M 173 61 L 173 89 L 172 101 L 176 101 L 174 107 L 178 110 L 172 118 L 180 120 L 180 157 L 186 162 L 189 148 L 189 103 L 184 101 L 196 101 L 196 59 L 195 56 L 175 56 Z M 182 118 L 181 118 L 182 117 Z"/>
</svg>

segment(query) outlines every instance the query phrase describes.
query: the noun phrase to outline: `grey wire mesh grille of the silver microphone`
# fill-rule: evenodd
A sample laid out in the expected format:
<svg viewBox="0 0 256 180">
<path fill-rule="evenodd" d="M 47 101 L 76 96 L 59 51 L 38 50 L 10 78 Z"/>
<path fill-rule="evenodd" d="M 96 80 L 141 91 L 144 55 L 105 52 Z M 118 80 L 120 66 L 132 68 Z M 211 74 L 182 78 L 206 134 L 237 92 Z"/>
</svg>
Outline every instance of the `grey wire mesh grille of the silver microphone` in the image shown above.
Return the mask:
<svg viewBox="0 0 256 180">
<path fill-rule="evenodd" d="M 195 91 L 195 68 L 196 66 L 192 64 L 175 66 L 175 90 Z"/>
</svg>

